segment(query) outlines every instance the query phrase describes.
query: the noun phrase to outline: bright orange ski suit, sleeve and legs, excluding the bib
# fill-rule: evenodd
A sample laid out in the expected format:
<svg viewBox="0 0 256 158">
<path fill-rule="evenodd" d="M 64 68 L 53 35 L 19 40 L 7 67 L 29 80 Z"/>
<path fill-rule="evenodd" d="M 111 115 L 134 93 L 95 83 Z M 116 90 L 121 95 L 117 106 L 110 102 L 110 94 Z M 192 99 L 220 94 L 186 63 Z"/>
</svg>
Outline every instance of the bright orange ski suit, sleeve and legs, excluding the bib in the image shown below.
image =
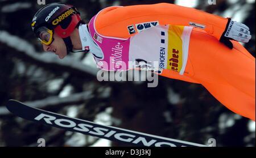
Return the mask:
<svg viewBox="0 0 256 158">
<path fill-rule="evenodd" d="M 95 27 L 102 36 L 129 38 L 127 27 L 158 21 L 160 25 L 195 26 L 189 42 L 184 75 L 165 69 L 162 76 L 202 84 L 233 112 L 255 121 L 255 58 L 232 41 L 229 49 L 219 42 L 228 19 L 195 8 L 169 3 L 112 6 L 98 13 Z"/>
</svg>

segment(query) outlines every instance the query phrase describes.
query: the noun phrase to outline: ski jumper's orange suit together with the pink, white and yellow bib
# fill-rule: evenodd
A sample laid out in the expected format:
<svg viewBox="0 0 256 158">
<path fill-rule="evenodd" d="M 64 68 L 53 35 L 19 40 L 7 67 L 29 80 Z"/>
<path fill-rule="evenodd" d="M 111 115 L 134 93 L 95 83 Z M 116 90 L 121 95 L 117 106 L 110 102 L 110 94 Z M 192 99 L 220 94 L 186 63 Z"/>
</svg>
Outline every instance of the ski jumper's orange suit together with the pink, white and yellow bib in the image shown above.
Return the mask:
<svg viewBox="0 0 256 158">
<path fill-rule="evenodd" d="M 104 53 L 94 57 L 101 69 L 158 61 L 159 75 L 202 84 L 228 109 L 255 121 L 255 58 L 237 41 L 233 49 L 219 42 L 227 23 L 194 8 L 159 3 L 105 8 L 90 20 L 89 32 Z"/>
</svg>

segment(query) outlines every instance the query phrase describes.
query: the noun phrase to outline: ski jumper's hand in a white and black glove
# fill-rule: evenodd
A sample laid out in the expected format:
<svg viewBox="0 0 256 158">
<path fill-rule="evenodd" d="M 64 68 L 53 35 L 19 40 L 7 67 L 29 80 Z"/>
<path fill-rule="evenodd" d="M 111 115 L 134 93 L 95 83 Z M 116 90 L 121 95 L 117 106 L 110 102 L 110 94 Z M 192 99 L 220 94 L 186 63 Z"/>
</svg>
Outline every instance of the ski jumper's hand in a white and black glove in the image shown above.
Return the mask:
<svg viewBox="0 0 256 158">
<path fill-rule="evenodd" d="M 226 25 L 226 29 L 221 36 L 220 42 L 224 43 L 226 46 L 228 46 L 228 48 L 232 49 L 233 44 L 229 40 L 249 42 L 250 39 L 251 35 L 249 27 L 247 27 L 245 24 L 229 19 L 228 24 Z"/>
</svg>

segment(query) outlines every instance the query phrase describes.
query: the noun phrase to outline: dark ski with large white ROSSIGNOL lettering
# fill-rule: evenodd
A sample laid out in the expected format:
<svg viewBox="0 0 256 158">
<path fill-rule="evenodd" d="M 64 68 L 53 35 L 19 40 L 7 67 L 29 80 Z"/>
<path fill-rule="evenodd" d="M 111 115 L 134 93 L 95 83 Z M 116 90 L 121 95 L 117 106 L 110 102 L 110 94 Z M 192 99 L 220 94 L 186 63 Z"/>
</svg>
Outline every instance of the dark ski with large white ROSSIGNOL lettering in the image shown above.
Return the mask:
<svg viewBox="0 0 256 158">
<path fill-rule="evenodd" d="M 46 110 L 32 108 L 16 100 L 7 101 L 7 109 L 16 116 L 24 119 L 43 123 L 44 125 L 57 127 L 59 129 L 73 131 L 98 138 L 108 139 L 115 142 L 127 143 L 133 146 L 146 147 L 206 147 L 203 144 L 186 142 L 183 140 L 164 138 L 138 131 L 121 129 L 119 127 L 99 125 L 94 122 L 71 118 Z"/>
</svg>

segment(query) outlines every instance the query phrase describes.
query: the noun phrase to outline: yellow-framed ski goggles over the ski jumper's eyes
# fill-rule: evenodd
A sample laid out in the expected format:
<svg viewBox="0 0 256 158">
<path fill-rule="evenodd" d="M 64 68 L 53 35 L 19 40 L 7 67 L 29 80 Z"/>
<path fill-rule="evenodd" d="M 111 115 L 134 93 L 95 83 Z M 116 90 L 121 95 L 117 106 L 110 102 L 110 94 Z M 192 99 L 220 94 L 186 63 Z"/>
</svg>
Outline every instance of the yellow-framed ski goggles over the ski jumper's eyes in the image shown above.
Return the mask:
<svg viewBox="0 0 256 158">
<path fill-rule="evenodd" d="M 36 30 L 36 37 L 45 45 L 51 45 L 53 42 L 53 31 L 47 27 L 40 27 Z"/>
</svg>

